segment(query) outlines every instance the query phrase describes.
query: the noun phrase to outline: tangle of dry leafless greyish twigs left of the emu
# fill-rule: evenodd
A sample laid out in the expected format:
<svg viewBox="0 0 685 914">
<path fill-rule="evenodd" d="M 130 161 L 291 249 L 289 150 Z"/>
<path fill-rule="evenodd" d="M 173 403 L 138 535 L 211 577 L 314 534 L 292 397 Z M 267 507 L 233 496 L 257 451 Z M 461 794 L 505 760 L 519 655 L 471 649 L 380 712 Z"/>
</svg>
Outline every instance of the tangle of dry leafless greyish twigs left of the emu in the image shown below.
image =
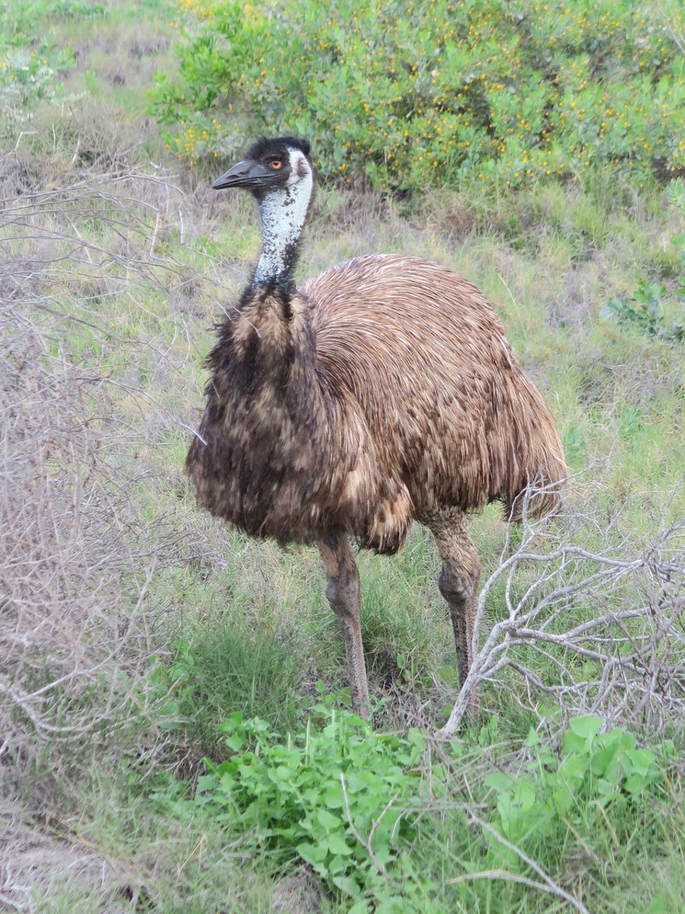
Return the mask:
<svg viewBox="0 0 685 914">
<path fill-rule="evenodd" d="M 170 307 L 171 339 L 142 339 L 101 303 L 197 287 L 163 253 L 182 210 L 173 184 L 132 171 L 0 202 L 0 758 L 109 733 L 146 701 L 151 583 L 178 546 L 146 516 L 127 445 L 157 407 L 140 374 L 181 370 L 189 333 Z"/>
</svg>

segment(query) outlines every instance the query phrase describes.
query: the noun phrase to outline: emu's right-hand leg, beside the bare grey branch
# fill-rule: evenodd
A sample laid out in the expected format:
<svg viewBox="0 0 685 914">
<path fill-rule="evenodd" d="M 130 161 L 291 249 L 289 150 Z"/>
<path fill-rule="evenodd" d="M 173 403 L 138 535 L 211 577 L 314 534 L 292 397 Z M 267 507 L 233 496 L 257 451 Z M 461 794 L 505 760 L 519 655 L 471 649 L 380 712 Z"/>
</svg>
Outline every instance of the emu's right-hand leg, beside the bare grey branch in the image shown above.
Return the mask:
<svg viewBox="0 0 685 914">
<path fill-rule="evenodd" d="M 442 558 L 437 586 L 448 603 L 457 647 L 459 683 L 464 685 L 473 662 L 473 626 L 480 579 L 478 553 L 469 537 L 466 517 L 461 512 L 432 517 L 427 526 L 436 538 Z M 471 713 L 475 710 L 474 701 Z"/>
</svg>

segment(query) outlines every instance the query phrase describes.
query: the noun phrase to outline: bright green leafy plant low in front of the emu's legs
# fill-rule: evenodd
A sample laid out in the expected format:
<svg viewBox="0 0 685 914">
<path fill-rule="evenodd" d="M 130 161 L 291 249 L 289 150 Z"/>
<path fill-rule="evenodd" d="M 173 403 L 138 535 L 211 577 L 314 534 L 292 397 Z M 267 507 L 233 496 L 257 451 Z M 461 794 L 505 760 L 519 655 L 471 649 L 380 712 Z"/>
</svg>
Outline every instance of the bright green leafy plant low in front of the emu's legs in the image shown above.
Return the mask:
<svg viewBox="0 0 685 914">
<path fill-rule="evenodd" d="M 416 810 L 429 799 L 426 740 L 374 732 L 350 713 L 314 708 L 323 726 L 281 741 L 263 720 L 237 713 L 222 729 L 232 755 L 208 763 L 195 803 L 237 812 L 239 831 L 276 864 L 300 858 L 353 914 L 430 912 L 429 885 L 409 856 Z M 444 789 L 434 768 L 431 791 Z"/>
</svg>

